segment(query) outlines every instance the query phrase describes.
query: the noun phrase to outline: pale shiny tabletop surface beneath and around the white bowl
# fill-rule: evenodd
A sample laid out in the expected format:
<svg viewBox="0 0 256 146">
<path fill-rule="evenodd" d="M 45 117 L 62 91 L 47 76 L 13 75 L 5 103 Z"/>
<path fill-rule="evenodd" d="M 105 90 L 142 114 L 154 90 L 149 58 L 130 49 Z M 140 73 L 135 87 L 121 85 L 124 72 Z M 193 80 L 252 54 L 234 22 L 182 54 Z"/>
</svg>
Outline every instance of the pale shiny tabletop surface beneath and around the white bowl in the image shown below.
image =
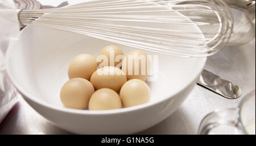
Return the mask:
<svg viewBox="0 0 256 146">
<path fill-rule="evenodd" d="M 43 5 L 51 5 L 53 1 L 40 2 Z M 52 4 L 52 6 L 58 5 L 59 3 L 56 2 Z M 205 69 L 239 85 L 242 90 L 242 97 L 226 99 L 197 85 L 183 105 L 171 116 L 138 134 L 197 134 L 201 120 L 209 112 L 237 107 L 241 99 L 255 89 L 255 41 L 238 47 L 222 49 L 216 55 L 208 57 Z M 24 99 L 20 98 L 0 124 L 0 134 L 71 133 L 53 126 L 32 109 Z"/>
</svg>

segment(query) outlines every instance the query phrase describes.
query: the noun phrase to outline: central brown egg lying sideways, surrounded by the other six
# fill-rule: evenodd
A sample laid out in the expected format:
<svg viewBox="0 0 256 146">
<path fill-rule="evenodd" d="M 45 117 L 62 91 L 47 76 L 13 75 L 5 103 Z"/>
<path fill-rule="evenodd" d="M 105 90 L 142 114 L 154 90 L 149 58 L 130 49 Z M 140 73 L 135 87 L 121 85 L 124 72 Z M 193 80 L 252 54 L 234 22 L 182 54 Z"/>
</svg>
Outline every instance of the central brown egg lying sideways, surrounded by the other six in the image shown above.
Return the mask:
<svg viewBox="0 0 256 146">
<path fill-rule="evenodd" d="M 110 88 L 117 93 L 126 81 L 126 74 L 121 69 L 114 66 L 100 68 L 92 74 L 92 77 L 90 77 L 90 82 L 96 90 Z"/>
</svg>

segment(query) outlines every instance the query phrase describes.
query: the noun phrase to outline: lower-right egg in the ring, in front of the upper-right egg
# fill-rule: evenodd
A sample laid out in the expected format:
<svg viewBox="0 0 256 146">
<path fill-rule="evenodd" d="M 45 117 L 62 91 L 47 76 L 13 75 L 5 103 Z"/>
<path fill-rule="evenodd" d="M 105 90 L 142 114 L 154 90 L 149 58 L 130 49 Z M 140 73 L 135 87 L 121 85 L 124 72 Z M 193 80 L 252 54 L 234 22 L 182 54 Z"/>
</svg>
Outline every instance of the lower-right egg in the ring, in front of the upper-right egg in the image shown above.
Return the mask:
<svg viewBox="0 0 256 146">
<path fill-rule="evenodd" d="M 120 98 L 124 107 L 141 105 L 150 101 L 150 88 L 139 79 L 132 79 L 123 84 Z"/>
</svg>

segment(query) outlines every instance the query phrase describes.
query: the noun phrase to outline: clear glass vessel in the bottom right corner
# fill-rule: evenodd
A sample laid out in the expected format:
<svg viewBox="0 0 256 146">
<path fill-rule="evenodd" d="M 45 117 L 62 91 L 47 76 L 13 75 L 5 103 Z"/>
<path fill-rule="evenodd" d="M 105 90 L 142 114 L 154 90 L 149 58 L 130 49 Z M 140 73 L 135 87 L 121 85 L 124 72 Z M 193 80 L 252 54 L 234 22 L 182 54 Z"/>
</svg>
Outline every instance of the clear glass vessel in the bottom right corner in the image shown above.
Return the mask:
<svg viewBox="0 0 256 146">
<path fill-rule="evenodd" d="M 223 125 L 236 127 L 240 134 L 255 135 L 255 90 L 247 94 L 236 109 L 214 111 L 205 116 L 198 134 L 210 134 Z"/>
</svg>

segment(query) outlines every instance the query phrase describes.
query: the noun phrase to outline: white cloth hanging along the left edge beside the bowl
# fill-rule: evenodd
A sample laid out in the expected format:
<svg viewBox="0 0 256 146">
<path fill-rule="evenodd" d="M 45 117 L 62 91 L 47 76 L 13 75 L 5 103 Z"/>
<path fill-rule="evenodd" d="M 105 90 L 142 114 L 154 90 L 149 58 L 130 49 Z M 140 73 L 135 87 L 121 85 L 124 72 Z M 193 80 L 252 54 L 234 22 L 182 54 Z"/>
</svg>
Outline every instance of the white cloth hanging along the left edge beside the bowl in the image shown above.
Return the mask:
<svg viewBox="0 0 256 146">
<path fill-rule="evenodd" d="M 6 73 L 5 54 L 9 41 L 19 32 L 18 11 L 13 1 L 0 1 L 0 123 L 18 101 L 18 91 Z"/>
</svg>

